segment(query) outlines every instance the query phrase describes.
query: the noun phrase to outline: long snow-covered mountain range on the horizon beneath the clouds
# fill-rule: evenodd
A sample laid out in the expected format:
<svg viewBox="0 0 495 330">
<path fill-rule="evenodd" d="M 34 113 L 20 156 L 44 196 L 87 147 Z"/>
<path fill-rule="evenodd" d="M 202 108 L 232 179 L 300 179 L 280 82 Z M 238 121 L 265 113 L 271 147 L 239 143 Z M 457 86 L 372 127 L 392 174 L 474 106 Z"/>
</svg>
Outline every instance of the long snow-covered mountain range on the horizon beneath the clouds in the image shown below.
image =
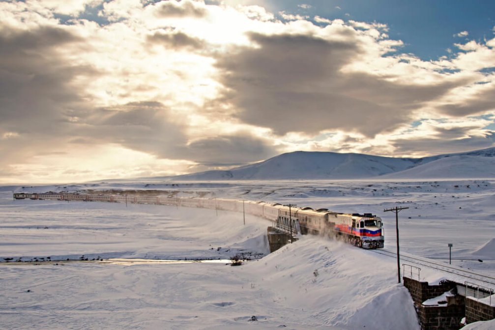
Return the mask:
<svg viewBox="0 0 495 330">
<path fill-rule="evenodd" d="M 207 171 L 177 180 L 428 179 L 495 178 L 495 147 L 424 158 L 395 158 L 358 153 L 284 153 L 227 171 Z"/>
</svg>

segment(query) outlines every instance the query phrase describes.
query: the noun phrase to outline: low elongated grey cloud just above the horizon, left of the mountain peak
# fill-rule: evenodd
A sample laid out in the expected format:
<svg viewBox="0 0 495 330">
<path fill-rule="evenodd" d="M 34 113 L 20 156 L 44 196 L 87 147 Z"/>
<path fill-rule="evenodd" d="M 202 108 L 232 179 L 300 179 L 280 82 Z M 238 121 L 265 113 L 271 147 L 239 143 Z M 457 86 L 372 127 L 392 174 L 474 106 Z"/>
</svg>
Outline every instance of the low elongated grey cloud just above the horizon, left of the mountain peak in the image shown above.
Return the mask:
<svg viewBox="0 0 495 330">
<path fill-rule="evenodd" d="M 173 123 L 170 110 L 159 102 L 132 102 L 95 111 L 79 133 L 80 143 L 118 143 L 159 158 L 187 159 L 206 166 L 237 165 L 265 159 L 276 152 L 266 141 L 240 133 L 189 143 L 185 127 Z"/>
</svg>

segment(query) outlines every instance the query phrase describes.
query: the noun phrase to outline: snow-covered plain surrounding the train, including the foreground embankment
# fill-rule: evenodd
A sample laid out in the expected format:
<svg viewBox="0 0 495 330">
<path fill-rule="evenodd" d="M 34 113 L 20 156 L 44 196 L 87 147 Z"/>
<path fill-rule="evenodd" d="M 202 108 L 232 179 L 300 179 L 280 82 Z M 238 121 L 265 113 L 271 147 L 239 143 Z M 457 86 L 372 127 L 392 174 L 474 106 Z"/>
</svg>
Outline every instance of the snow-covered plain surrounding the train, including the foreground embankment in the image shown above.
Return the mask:
<svg viewBox="0 0 495 330">
<path fill-rule="evenodd" d="M 396 259 L 303 236 L 268 254 L 266 220 L 239 213 L 99 202 L 13 200 L 12 191 L 156 189 L 163 195 L 292 202 L 371 212 L 385 250 L 434 258 L 495 277 L 494 181 L 113 181 L 0 187 L 0 258 L 229 259 L 225 263 L 0 265 L 0 329 L 404 329 L 418 330 Z M 480 262 L 478 259 L 482 260 Z M 448 274 L 422 267 L 421 279 Z M 487 284 L 489 285 L 489 284 Z M 252 317 L 257 321 L 251 321 Z M 492 329 L 492 322 L 466 329 Z M 478 328 L 476 328 L 478 327 Z M 491 328 L 492 327 L 492 328 Z"/>
</svg>

